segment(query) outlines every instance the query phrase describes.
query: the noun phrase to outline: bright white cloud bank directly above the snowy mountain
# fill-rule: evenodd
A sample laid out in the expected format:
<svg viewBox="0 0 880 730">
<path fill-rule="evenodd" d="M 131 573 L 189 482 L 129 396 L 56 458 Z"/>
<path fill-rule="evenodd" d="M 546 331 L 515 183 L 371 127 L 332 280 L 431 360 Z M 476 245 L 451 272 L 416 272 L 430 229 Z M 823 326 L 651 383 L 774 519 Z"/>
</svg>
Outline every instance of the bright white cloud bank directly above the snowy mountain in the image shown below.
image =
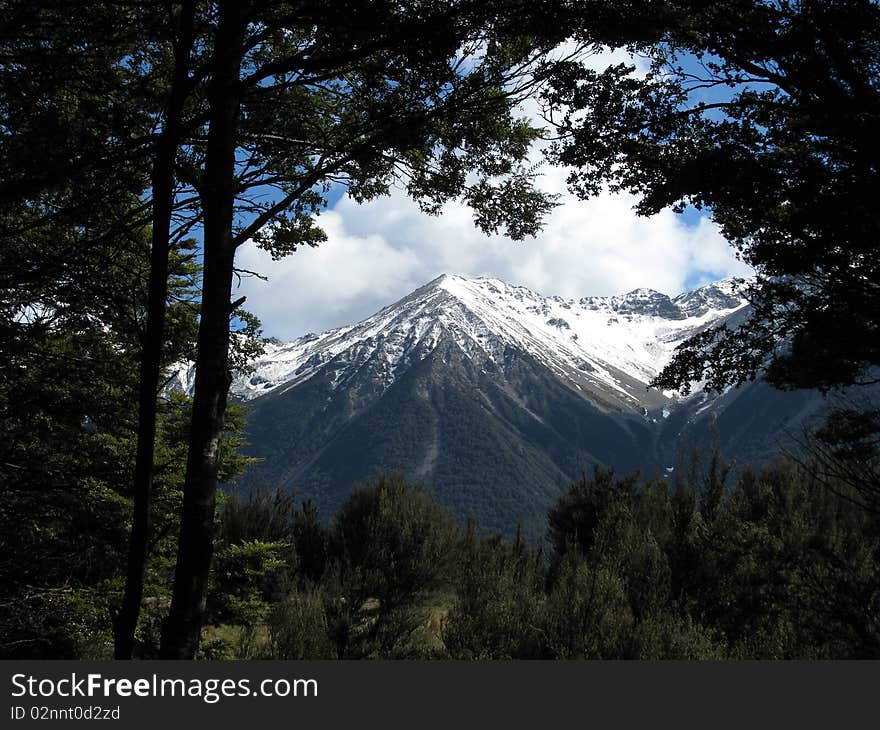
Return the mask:
<svg viewBox="0 0 880 730">
<path fill-rule="evenodd" d="M 321 216 L 328 241 L 317 249 L 273 262 L 242 247 L 236 263 L 269 277 L 244 280 L 245 306 L 267 335 L 292 339 L 362 319 L 443 273 L 495 276 L 565 297 L 637 287 L 675 294 L 686 282 L 749 273 L 707 219 L 689 226 L 671 211 L 641 218 L 626 194 L 581 201 L 565 176 L 544 169 L 540 186 L 561 193 L 561 205 L 525 242 L 483 235 L 461 204 L 429 217 L 402 191 L 363 206 L 344 197 Z"/>
</svg>

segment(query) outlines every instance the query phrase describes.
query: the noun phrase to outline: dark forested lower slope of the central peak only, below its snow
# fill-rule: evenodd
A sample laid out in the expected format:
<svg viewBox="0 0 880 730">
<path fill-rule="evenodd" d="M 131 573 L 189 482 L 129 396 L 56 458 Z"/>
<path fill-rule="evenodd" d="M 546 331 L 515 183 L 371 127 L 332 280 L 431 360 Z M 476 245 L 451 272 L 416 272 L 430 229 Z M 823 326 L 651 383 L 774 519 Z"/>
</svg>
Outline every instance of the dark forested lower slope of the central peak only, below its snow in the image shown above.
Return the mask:
<svg viewBox="0 0 880 730">
<path fill-rule="evenodd" d="M 363 381 L 334 389 L 323 373 L 256 399 L 250 437 L 265 461 L 251 478 L 328 514 L 355 481 L 403 471 L 487 529 L 519 522 L 534 533 L 572 476 L 597 461 L 639 466 L 633 446 L 650 438 L 639 419 L 609 419 L 526 353 L 511 351 L 505 365 L 476 364 L 447 341 L 372 402 L 351 397 Z"/>
</svg>

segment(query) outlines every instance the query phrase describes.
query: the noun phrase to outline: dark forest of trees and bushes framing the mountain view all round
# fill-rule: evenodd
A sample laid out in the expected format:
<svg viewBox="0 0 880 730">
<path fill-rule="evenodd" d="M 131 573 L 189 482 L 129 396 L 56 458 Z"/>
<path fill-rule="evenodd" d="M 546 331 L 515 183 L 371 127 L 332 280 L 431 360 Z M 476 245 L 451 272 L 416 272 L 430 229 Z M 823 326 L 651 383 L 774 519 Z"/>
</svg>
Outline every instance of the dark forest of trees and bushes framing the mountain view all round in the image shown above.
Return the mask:
<svg viewBox="0 0 880 730">
<path fill-rule="evenodd" d="M 0 10 L 0 658 L 880 657 L 876 2 Z M 609 48 L 647 66 L 586 63 Z M 863 395 L 774 464 L 597 466 L 537 544 L 402 475 L 334 515 L 237 491 L 236 250 L 322 245 L 334 195 L 392 188 L 528 238 L 538 142 L 584 199 L 706 211 L 756 271 L 745 325 L 655 387 Z"/>
</svg>

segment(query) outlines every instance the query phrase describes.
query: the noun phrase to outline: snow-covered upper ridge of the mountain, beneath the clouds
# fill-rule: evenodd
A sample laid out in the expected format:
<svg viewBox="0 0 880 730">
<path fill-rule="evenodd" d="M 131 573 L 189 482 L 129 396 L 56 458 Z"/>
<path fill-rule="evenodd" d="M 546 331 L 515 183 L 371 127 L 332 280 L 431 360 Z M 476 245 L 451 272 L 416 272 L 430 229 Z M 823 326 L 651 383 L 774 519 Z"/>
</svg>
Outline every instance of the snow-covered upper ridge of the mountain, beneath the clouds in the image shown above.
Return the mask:
<svg viewBox="0 0 880 730">
<path fill-rule="evenodd" d="M 511 348 L 530 354 L 585 397 L 609 407 L 656 407 L 646 390 L 677 345 L 747 306 L 726 280 L 670 298 L 651 289 L 623 296 L 543 297 L 492 278 L 443 275 L 357 324 L 267 344 L 232 393 L 252 399 L 295 387 L 325 369 L 334 385 L 368 366 L 384 390 L 414 359 L 453 342 L 468 358 L 503 367 Z M 189 390 L 191 373 L 179 373 Z"/>
</svg>

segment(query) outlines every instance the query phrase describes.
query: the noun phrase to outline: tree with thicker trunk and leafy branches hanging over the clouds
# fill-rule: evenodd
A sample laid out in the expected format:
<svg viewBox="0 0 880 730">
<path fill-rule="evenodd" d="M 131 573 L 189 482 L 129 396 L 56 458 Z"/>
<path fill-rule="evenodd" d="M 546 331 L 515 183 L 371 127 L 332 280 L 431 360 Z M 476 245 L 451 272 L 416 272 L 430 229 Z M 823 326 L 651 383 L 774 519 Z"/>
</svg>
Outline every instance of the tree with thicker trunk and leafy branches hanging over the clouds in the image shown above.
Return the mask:
<svg viewBox="0 0 880 730">
<path fill-rule="evenodd" d="M 205 127 L 185 141 L 179 174 L 203 214 L 205 270 L 165 656 L 198 645 L 237 247 L 253 239 L 283 255 L 317 244 L 314 216 L 333 183 L 363 201 L 400 182 L 431 213 L 463 197 L 485 230 L 533 233 L 550 203 L 523 165 L 537 132 L 511 110 L 534 83 L 533 61 L 565 31 L 542 7 L 516 9 L 511 23 L 506 3 L 352 2 L 342 13 L 335 3 L 221 2 L 197 22 Z M 518 30 L 530 20 L 539 41 Z M 266 186 L 278 191 L 269 204 L 258 196 Z"/>
</svg>

